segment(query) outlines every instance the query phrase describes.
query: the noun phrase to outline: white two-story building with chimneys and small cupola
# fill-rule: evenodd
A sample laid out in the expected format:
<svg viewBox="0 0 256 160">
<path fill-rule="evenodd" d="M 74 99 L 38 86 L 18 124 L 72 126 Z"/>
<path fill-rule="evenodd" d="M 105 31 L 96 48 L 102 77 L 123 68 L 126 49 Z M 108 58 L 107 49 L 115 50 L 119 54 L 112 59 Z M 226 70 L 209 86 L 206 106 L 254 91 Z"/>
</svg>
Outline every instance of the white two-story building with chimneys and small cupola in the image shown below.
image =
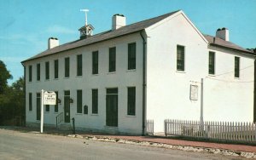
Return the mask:
<svg viewBox="0 0 256 160">
<path fill-rule="evenodd" d="M 166 118 L 253 121 L 255 55 L 231 43 L 228 29 L 204 35 L 181 10 L 127 26 L 122 14 L 112 20 L 96 35 L 81 27 L 71 43 L 51 37 L 22 61 L 27 125 L 40 123 L 41 89 L 58 97 L 44 106 L 52 126 L 74 118 L 78 129 L 144 134 L 147 119 L 155 133 Z"/>
</svg>

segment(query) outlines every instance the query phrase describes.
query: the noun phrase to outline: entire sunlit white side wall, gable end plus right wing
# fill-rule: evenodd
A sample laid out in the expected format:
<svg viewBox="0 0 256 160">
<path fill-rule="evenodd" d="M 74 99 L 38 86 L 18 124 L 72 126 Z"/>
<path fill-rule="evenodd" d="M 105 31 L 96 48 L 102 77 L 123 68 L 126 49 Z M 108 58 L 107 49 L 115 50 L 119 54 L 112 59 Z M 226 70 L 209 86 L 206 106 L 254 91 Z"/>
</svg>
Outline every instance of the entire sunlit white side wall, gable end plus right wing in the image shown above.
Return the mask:
<svg viewBox="0 0 256 160">
<path fill-rule="evenodd" d="M 166 118 L 200 120 L 201 78 L 204 79 L 205 120 L 253 121 L 252 57 L 229 50 L 208 49 L 183 14 L 162 20 L 146 31 L 147 119 L 154 120 L 155 133 L 164 131 Z M 185 49 L 184 71 L 177 71 L 177 45 Z M 212 49 L 216 52 L 216 76 L 208 75 Z M 241 57 L 240 78 L 234 78 L 235 55 Z M 229 71 L 233 72 L 230 77 L 217 76 Z M 197 100 L 190 99 L 191 84 L 197 86 Z"/>
</svg>

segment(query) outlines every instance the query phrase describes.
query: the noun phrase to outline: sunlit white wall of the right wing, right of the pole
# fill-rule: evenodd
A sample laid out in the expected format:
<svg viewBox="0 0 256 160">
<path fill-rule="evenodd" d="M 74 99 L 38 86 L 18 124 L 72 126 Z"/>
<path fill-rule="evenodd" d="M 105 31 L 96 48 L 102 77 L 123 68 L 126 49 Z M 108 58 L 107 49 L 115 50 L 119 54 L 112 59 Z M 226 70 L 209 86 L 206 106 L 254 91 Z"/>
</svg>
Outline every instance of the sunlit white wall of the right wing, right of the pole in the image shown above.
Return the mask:
<svg viewBox="0 0 256 160">
<path fill-rule="evenodd" d="M 253 122 L 253 57 L 227 49 L 209 50 L 215 52 L 216 73 L 204 79 L 204 119 Z M 240 59 L 239 77 L 235 77 L 235 57 Z"/>
</svg>

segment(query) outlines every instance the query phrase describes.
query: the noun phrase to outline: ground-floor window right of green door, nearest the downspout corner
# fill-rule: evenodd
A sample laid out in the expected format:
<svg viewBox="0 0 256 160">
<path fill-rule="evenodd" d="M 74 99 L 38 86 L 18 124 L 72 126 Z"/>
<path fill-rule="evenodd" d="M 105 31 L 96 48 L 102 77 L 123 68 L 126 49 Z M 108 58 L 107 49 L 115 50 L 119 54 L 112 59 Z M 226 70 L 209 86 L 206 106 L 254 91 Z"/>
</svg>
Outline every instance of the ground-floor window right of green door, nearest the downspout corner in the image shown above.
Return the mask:
<svg viewBox="0 0 256 160">
<path fill-rule="evenodd" d="M 136 108 L 136 88 L 128 88 L 128 104 L 127 104 L 127 115 L 135 116 Z"/>
</svg>

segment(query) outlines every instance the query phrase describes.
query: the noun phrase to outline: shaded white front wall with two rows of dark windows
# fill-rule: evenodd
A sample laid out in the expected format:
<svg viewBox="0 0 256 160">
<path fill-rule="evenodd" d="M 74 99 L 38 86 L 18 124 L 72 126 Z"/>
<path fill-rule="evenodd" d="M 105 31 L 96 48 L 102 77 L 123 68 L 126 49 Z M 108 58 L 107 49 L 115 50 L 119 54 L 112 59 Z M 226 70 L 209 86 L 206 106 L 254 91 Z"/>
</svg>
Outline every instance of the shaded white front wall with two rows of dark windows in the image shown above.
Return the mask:
<svg viewBox="0 0 256 160">
<path fill-rule="evenodd" d="M 136 70 L 129 71 L 128 43 L 136 43 Z M 108 49 L 116 47 L 116 71 L 108 72 Z M 92 52 L 99 52 L 99 73 L 92 74 Z M 82 54 L 83 76 L 77 76 L 77 55 Z M 70 76 L 64 77 L 64 61 L 70 58 Z M 59 78 L 54 78 L 54 60 L 59 60 Z M 49 80 L 45 80 L 45 62 L 49 61 Z M 41 80 L 36 80 L 37 64 L 41 65 Z M 28 66 L 32 65 L 32 82 L 28 82 Z M 73 103 L 70 104 L 71 117 L 75 118 L 76 127 L 114 131 L 131 134 L 142 133 L 142 97 L 143 97 L 143 41 L 139 34 L 119 37 L 107 42 L 96 43 L 79 49 L 72 49 L 60 54 L 50 55 L 26 62 L 26 122 L 39 123 L 36 120 L 36 93 L 41 89 L 58 91 L 61 104 L 59 111 L 54 106 L 49 112 L 44 109 L 44 123 L 55 125 L 55 117 L 64 111 L 64 91 L 70 90 Z M 127 115 L 127 88 L 136 87 L 136 115 Z M 106 126 L 106 89 L 118 88 L 118 127 Z M 82 113 L 77 113 L 77 90 L 82 89 Z M 98 114 L 92 114 L 91 89 L 98 89 Z M 29 93 L 32 93 L 32 111 L 29 111 Z M 84 106 L 88 106 L 88 114 L 84 114 Z"/>
</svg>

